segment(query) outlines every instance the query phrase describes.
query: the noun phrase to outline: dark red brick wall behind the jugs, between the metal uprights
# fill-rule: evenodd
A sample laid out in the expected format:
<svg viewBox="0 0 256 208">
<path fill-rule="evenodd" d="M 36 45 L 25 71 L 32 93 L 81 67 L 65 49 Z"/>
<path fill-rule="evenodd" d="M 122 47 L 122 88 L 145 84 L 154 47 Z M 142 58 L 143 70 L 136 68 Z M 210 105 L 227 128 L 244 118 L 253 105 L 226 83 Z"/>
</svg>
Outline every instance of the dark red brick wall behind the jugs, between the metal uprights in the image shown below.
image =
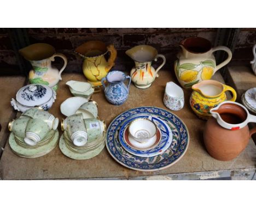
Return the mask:
<svg viewBox="0 0 256 208">
<path fill-rule="evenodd" d="M 102 40 L 114 44 L 118 50 L 115 69 L 131 69 L 132 60 L 125 51 L 139 44 L 155 46 L 159 53 L 165 54 L 165 68 L 172 68 L 173 60 L 179 50 L 178 43 L 190 36 L 202 36 L 214 43 L 215 28 L 51 28 L 28 29 L 31 43 L 46 42 L 53 45 L 68 58 L 66 72 L 82 71 L 83 58 L 75 54 L 74 48 L 88 40 Z"/>
</svg>

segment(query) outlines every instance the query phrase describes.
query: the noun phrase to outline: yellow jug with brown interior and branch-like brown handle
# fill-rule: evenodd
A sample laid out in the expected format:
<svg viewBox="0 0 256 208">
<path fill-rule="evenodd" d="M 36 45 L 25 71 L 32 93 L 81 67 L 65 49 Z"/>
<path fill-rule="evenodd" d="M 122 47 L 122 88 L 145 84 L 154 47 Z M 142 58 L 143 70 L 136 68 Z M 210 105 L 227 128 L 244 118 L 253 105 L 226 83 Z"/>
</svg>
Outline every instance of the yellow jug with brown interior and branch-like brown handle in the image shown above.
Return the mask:
<svg viewBox="0 0 256 208">
<path fill-rule="evenodd" d="M 75 49 L 84 58 L 84 76 L 94 86 L 100 86 L 101 79 L 106 77 L 109 70 L 114 66 L 117 58 L 117 50 L 114 45 L 106 46 L 102 41 L 88 41 Z M 105 55 L 110 53 L 108 61 Z"/>
</svg>

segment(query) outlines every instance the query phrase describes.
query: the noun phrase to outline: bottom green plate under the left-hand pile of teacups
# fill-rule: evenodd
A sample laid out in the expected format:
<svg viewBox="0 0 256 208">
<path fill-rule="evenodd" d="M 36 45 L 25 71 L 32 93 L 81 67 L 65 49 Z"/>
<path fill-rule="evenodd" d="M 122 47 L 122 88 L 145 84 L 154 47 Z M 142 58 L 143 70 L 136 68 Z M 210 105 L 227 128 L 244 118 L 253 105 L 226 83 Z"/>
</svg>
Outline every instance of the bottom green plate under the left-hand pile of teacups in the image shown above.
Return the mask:
<svg viewBox="0 0 256 208">
<path fill-rule="evenodd" d="M 53 150 L 57 145 L 58 139 L 59 139 L 59 131 L 56 130 L 54 134 L 54 138 L 48 144 L 40 146 L 39 148 L 36 148 L 36 149 L 27 149 L 27 148 L 23 148 L 22 146 L 16 143 L 14 134 L 13 132 L 11 132 L 9 137 L 9 145 L 11 150 L 13 150 L 13 152 L 20 157 L 36 158 L 36 157 L 46 155 L 51 150 Z"/>
</svg>

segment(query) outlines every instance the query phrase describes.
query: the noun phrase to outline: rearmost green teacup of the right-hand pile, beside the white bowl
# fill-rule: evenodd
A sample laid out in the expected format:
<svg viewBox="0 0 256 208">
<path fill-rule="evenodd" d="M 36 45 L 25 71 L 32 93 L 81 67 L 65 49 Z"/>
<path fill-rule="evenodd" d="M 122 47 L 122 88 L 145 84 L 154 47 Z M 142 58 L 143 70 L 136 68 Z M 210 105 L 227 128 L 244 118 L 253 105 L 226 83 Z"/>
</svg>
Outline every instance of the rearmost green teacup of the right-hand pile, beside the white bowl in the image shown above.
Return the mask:
<svg viewBox="0 0 256 208">
<path fill-rule="evenodd" d="M 83 119 L 95 119 L 98 116 L 98 104 L 93 100 L 89 100 L 78 108 L 75 113 L 82 113 Z"/>
</svg>

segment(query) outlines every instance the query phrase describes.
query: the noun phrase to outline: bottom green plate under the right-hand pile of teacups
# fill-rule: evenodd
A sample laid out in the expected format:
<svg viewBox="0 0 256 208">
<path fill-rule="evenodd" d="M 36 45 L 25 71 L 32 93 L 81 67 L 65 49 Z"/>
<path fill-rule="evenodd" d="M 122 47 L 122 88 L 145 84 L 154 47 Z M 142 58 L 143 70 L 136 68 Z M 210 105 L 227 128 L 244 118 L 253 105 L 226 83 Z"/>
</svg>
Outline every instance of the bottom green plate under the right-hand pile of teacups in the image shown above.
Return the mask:
<svg viewBox="0 0 256 208">
<path fill-rule="evenodd" d="M 67 157 L 72 158 L 74 160 L 88 160 L 92 157 L 95 157 L 101 153 L 104 146 L 105 146 L 105 142 L 103 141 L 102 144 L 97 149 L 88 151 L 84 154 L 78 154 L 67 148 L 65 140 L 63 138 L 63 134 L 60 137 L 60 143 L 59 143 L 59 147 L 63 155 L 66 155 Z"/>
</svg>

